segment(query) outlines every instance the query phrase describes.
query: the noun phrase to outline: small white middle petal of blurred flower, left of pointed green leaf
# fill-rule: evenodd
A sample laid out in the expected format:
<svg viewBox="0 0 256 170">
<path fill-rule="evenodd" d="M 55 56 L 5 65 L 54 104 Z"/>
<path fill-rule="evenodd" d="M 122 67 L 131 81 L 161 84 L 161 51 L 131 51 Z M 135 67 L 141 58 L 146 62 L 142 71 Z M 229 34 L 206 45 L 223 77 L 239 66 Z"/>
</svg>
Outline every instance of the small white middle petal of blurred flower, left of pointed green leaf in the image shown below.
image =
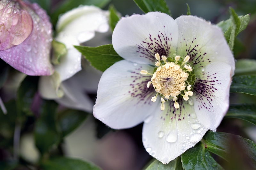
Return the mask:
<svg viewBox="0 0 256 170">
<path fill-rule="evenodd" d="M 54 66 L 61 81 L 67 80 L 81 69 L 81 53 L 75 47 L 69 48 L 68 52 L 60 57 L 60 64 Z"/>
</svg>

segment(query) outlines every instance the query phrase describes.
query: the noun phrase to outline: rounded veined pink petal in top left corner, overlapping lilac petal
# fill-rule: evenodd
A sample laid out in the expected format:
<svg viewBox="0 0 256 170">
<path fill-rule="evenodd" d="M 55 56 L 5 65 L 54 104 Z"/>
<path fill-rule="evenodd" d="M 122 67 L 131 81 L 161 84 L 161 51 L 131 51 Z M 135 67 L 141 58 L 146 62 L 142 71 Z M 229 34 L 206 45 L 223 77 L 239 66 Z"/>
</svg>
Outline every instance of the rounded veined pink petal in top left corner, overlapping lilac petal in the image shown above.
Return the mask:
<svg viewBox="0 0 256 170">
<path fill-rule="evenodd" d="M 0 2 L 0 18 L 0 50 L 19 45 L 32 32 L 32 18 L 16 1 Z"/>
</svg>

